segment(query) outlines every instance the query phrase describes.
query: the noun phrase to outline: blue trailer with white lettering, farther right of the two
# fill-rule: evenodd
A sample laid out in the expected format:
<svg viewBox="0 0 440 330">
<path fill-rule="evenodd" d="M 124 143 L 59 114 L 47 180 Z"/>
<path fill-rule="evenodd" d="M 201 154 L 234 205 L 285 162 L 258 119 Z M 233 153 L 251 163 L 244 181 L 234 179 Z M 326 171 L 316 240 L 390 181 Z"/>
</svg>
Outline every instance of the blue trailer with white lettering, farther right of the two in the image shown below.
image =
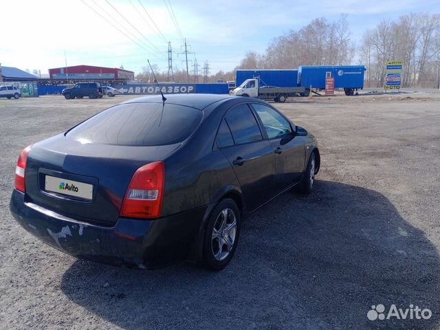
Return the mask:
<svg viewBox="0 0 440 330">
<path fill-rule="evenodd" d="M 319 65 L 298 67 L 298 86 L 325 89 L 325 78 L 335 78 L 335 88 L 347 96 L 364 88 L 364 65 Z"/>
</svg>

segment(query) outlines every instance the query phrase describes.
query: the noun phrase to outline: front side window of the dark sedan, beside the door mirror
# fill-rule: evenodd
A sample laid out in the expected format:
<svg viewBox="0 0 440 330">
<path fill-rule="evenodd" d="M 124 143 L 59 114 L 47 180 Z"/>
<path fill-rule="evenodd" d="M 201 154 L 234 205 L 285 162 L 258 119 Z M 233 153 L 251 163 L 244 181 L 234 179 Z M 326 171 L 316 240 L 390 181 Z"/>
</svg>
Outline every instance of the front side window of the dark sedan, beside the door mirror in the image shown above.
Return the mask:
<svg viewBox="0 0 440 330">
<path fill-rule="evenodd" d="M 259 115 L 269 139 L 292 134 L 292 126 L 280 113 L 264 104 L 252 104 L 252 107 Z"/>
</svg>

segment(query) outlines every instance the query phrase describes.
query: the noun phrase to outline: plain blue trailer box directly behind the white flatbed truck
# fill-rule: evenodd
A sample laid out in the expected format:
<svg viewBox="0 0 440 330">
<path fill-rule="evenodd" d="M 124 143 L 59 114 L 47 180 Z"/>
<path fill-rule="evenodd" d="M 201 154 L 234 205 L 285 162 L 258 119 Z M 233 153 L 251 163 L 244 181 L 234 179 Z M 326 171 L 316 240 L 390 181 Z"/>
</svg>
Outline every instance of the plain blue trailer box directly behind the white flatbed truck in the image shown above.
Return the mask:
<svg viewBox="0 0 440 330">
<path fill-rule="evenodd" d="M 298 70 L 236 70 L 235 85 L 240 86 L 247 79 L 259 79 L 261 86 L 297 87 Z"/>
</svg>

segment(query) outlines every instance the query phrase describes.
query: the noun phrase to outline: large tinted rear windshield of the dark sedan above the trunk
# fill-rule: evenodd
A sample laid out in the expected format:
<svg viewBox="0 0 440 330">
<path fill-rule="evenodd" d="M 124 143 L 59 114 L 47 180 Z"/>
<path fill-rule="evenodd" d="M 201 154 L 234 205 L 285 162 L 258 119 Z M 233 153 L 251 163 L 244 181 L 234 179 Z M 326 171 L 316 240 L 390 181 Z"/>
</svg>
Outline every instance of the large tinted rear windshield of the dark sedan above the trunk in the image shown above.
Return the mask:
<svg viewBox="0 0 440 330">
<path fill-rule="evenodd" d="M 67 132 L 83 143 L 158 146 L 186 140 L 202 118 L 198 109 L 177 104 L 120 104 Z"/>
</svg>

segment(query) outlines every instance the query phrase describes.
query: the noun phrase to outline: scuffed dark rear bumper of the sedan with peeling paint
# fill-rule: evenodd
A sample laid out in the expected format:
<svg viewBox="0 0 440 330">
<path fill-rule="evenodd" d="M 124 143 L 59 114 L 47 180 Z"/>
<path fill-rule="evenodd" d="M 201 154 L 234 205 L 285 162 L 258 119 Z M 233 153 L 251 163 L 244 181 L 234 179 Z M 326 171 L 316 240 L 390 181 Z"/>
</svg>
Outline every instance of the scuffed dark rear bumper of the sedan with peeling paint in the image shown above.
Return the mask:
<svg viewBox="0 0 440 330">
<path fill-rule="evenodd" d="M 10 210 L 25 230 L 44 243 L 78 258 L 157 268 L 188 258 L 208 206 L 157 220 L 118 219 L 112 228 L 65 217 L 27 201 L 14 190 Z"/>
</svg>

